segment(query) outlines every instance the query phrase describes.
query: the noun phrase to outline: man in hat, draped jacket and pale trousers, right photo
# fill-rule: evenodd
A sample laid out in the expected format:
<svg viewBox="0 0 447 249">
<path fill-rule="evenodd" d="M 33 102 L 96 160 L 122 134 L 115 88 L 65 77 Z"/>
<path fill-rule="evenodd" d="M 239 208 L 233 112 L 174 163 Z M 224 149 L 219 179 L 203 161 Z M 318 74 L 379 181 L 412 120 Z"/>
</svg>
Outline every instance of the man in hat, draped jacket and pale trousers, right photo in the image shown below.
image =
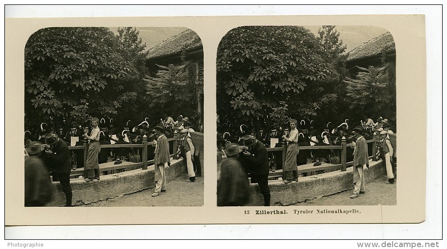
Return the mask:
<svg viewBox="0 0 447 249">
<path fill-rule="evenodd" d="M 357 126 L 353 129 L 357 140 L 353 143 L 354 146 L 354 161 L 353 161 L 353 183 L 354 191 L 350 196 L 351 199 L 357 198 L 359 194 L 365 193 L 365 177 L 363 175 L 363 167 L 369 167 L 368 159 L 368 145 L 366 139 L 363 137 L 364 129 L 361 126 Z"/>
</svg>

